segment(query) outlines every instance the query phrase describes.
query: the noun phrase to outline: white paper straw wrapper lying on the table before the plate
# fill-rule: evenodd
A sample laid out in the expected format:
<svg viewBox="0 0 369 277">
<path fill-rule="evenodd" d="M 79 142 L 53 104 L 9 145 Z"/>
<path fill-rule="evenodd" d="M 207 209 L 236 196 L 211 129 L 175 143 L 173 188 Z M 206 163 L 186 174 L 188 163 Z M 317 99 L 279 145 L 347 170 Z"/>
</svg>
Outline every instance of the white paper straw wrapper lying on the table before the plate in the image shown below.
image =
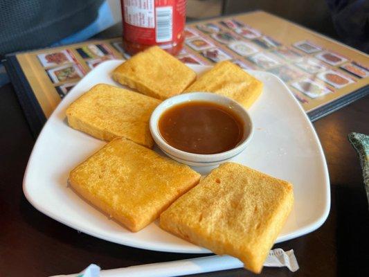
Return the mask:
<svg viewBox="0 0 369 277">
<path fill-rule="evenodd" d="M 89 265 L 80 274 L 58 275 L 53 277 L 171 277 L 200 274 L 211 271 L 244 267 L 242 262 L 231 256 L 208 256 L 173 262 L 158 262 L 148 265 L 135 265 L 120 269 L 100 270 L 97 265 Z M 298 270 L 294 250 L 273 249 L 264 262 L 264 267 L 287 267 L 290 271 Z"/>
</svg>

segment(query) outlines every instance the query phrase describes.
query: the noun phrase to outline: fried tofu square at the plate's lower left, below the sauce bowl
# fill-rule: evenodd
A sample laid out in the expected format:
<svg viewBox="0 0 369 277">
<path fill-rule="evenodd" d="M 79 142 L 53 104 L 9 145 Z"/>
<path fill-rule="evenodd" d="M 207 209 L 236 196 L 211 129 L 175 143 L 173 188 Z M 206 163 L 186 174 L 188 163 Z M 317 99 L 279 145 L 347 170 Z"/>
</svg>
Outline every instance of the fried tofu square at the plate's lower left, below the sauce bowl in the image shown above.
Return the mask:
<svg viewBox="0 0 369 277">
<path fill-rule="evenodd" d="M 73 169 L 69 184 L 91 204 L 136 232 L 150 224 L 200 175 L 127 139 L 114 139 Z"/>
</svg>

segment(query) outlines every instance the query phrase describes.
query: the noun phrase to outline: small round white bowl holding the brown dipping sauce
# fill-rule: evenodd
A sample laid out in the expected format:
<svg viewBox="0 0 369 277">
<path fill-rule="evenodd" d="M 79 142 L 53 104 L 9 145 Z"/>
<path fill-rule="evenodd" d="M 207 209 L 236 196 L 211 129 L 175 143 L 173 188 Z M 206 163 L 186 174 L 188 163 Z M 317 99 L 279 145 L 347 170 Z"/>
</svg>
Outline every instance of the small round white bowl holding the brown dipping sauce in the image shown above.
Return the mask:
<svg viewBox="0 0 369 277">
<path fill-rule="evenodd" d="M 217 105 L 222 105 L 224 107 L 232 109 L 233 112 L 237 114 L 237 116 L 240 118 L 240 120 L 242 120 L 243 129 L 244 131 L 246 130 L 240 143 L 238 143 L 235 148 L 231 150 L 217 154 L 195 154 L 184 152 L 169 145 L 160 134 L 158 124 L 159 119 L 167 109 L 170 109 L 175 105 L 190 101 L 213 102 Z M 161 104 L 156 107 L 156 109 L 154 109 L 150 118 L 150 132 L 152 134 L 152 137 L 154 138 L 155 143 L 170 158 L 179 161 L 180 163 L 186 163 L 188 166 L 217 166 L 219 163 L 224 163 L 225 161 L 228 161 L 237 156 L 246 148 L 253 136 L 253 123 L 246 109 L 235 102 L 235 100 L 232 100 L 231 98 L 225 96 L 219 96 L 215 93 L 193 92 L 183 93 L 179 96 L 174 96 L 161 102 Z"/>
</svg>

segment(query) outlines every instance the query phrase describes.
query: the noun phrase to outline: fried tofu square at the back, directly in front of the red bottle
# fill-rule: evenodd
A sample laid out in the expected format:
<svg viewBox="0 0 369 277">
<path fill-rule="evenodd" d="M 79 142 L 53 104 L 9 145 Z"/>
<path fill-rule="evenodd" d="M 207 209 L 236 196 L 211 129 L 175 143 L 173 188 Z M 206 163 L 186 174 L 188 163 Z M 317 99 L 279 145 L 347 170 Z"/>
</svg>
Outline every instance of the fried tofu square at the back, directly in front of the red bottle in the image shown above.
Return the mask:
<svg viewBox="0 0 369 277">
<path fill-rule="evenodd" d="M 159 46 L 153 46 L 120 64 L 113 71 L 113 79 L 165 100 L 184 91 L 195 81 L 196 73 Z"/>
</svg>

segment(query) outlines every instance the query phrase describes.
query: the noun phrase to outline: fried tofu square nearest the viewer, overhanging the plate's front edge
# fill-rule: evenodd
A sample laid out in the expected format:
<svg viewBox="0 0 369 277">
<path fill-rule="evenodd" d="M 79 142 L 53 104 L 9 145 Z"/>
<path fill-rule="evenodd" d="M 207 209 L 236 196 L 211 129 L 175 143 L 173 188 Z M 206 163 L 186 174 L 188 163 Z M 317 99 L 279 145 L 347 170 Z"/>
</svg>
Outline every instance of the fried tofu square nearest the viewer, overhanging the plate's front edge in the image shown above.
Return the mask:
<svg viewBox="0 0 369 277">
<path fill-rule="evenodd" d="M 163 212 L 160 226 L 260 273 L 293 202 L 287 181 L 223 163 Z"/>
</svg>

